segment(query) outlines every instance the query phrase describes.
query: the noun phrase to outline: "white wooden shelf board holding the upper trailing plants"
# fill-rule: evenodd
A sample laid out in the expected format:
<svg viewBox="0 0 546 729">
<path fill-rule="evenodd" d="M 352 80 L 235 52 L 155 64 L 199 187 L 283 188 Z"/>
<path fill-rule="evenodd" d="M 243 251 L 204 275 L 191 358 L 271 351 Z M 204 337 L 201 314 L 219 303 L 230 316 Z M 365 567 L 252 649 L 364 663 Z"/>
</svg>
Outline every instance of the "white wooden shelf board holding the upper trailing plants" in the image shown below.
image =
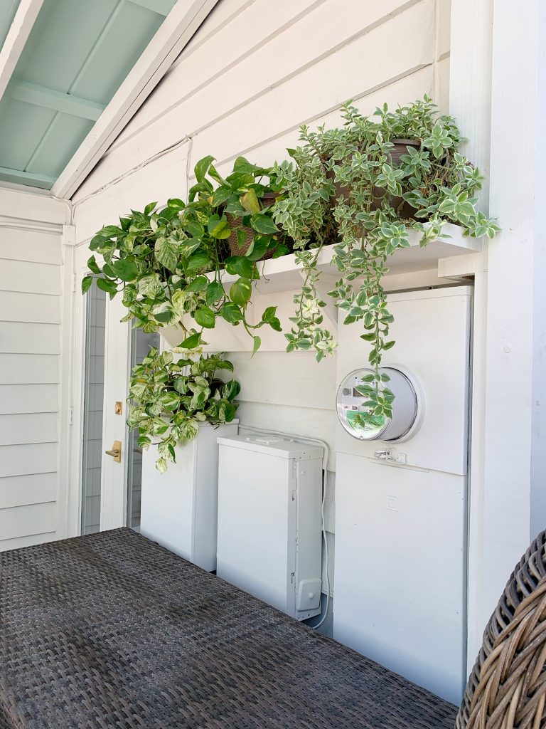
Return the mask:
<svg viewBox="0 0 546 729">
<path fill-rule="evenodd" d="M 426 224 L 425 224 L 426 225 Z M 443 258 L 462 256 L 464 254 L 479 252 L 481 242 L 478 238 L 465 238 L 459 225 L 448 223 L 443 227 L 443 233 L 449 238 L 436 238 L 426 248 L 419 247 L 421 235 L 419 231 L 410 230 L 409 248 L 398 249 L 387 259 L 389 276 L 400 273 L 414 273 L 416 271 L 438 268 L 438 261 Z M 317 268 L 332 278 L 339 278 L 339 271 L 332 265 L 333 247 L 325 246 L 320 252 Z M 273 294 L 282 291 L 293 291 L 301 286 L 301 265 L 296 263 L 295 254 L 271 258 L 258 262 L 260 280 L 254 286 L 257 293 Z M 236 281 L 238 276 L 222 273 L 222 282 L 229 285 Z"/>
</svg>

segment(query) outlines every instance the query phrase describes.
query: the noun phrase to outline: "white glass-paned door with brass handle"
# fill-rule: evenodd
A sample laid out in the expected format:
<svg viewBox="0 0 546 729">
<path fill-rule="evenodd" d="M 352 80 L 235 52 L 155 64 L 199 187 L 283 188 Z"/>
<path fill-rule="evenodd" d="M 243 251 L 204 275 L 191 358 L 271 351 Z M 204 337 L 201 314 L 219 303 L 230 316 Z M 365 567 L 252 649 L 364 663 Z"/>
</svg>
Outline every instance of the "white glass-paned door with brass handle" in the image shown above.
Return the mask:
<svg viewBox="0 0 546 729">
<path fill-rule="evenodd" d="M 76 249 L 71 524 L 74 534 L 124 526 L 127 475 L 134 471 L 127 432 L 131 328 L 120 297 L 94 284 L 79 291 L 89 249 Z"/>
</svg>

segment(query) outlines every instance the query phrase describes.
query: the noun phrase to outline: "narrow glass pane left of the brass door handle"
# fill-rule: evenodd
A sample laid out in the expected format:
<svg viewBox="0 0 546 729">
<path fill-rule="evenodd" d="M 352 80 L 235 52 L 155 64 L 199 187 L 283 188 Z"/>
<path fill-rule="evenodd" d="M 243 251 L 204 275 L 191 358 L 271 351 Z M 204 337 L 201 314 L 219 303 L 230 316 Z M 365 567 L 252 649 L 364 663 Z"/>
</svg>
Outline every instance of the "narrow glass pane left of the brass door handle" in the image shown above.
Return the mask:
<svg viewBox="0 0 546 729">
<path fill-rule="evenodd" d="M 87 292 L 82 448 L 82 534 L 100 529 L 100 477 L 103 457 L 104 335 L 106 293 Z"/>
</svg>

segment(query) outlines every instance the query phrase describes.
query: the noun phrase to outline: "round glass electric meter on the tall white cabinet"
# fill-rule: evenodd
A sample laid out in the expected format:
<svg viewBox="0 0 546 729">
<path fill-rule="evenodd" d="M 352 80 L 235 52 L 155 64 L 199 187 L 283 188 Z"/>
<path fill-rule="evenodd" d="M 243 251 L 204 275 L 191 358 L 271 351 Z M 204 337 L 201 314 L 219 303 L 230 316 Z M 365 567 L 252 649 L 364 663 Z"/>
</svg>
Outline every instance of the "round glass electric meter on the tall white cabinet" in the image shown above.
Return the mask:
<svg viewBox="0 0 546 729">
<path fill-rule="evenodd" d="M 368 398 L 359 393 L 358 386 L 365 384 L 363 378 L 372 373 L 368 368 L 355 370 L 341 381 L 336 402 L 339 422 L 349 435 L 359 440 L 408 440 L 422 420 L 423 398 L 419 383 L 400 367 L 383 367 L 381 373 L 389 375 L 386 385 L 395 394 L 392 418 L 376 416 L 371 422 L 364 422 L 363 413 L 369 413 L 364 405 Z"/>
</svg>

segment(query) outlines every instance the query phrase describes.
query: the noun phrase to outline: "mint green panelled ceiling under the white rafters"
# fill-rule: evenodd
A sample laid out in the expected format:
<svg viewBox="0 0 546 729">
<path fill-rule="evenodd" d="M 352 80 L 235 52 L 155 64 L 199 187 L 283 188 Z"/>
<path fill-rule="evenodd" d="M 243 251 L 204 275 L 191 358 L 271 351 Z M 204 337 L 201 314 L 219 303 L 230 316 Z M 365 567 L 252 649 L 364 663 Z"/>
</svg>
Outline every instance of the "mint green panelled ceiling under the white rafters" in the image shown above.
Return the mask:
<svg viewBox="0 0 546 729">
<path fill-rule="evenodd" d="M 49 190 L 176 0 L 45 0 L 0 101 L 0 180 Z M 0 45 L 19 0 L 0 0 Z"/>
</svg>

